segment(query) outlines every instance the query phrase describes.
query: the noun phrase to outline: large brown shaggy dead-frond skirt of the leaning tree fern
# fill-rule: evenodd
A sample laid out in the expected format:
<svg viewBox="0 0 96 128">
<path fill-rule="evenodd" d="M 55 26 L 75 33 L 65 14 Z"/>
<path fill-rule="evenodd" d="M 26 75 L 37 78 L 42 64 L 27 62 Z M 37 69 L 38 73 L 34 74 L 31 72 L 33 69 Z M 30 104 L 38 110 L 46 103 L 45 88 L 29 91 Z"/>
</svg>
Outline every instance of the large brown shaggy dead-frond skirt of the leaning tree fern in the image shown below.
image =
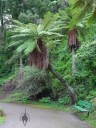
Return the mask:
<svg viewBox="0 0 96 128">
<path fill-rule="evenodd" d="M 35 65 L 38 68 L 48 69 L 49 67 L 48 49 L 41 39 L 38 39 L 37 44 L 40 50 L 36 48 L 32 53 L 30 53 L 29 64 L 30 66 Z"/>
</svg>

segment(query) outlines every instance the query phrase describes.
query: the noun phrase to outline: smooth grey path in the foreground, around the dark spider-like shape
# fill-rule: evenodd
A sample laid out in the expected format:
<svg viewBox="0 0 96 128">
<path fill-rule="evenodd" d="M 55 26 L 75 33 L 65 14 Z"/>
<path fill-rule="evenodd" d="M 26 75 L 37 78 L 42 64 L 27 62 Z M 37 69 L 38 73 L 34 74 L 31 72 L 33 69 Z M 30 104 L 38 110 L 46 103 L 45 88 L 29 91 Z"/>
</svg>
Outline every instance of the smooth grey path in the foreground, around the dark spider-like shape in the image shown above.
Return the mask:
<svg viewBox="0 0 96 128">
<path fill-rule="evenodd" d="M 0 103 L 0 108 L 6 113 L 6 122 L 0 128 L 88 128 L 85 122 L 67 112 L 42 110 L 10 103 Z M 25 109 L 30 116 L 26 126 L 20 121 L 20 116 Z"/>
</svg>

